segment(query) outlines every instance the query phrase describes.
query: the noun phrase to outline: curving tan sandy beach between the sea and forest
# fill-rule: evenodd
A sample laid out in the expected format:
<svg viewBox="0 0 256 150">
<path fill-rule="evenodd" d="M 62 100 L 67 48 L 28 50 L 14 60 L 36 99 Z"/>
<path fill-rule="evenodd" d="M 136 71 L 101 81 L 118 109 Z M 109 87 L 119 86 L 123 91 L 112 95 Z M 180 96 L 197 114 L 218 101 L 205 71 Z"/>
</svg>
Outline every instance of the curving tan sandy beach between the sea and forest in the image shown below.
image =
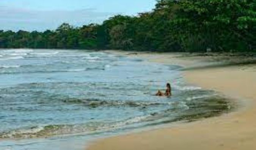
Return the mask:
<svg viewBox="0 0 256 150">
<path fill-rule="evenodd" d="M 238 109 L 196 122 L 99 139 L 87 150 L 255 150 L 256 65 L 218 65 L 230 57 L 181 57 L 173 53 L 110 53 L 144 58 L 151 62 L 181 65 L 189 84 L 230 97 Z M 237 62 L 232 57 L 229 62 Z M 214 67 L 210 67 L 214 66 Z M 186 70 L 187 68 L 187 70 Z"/>
</svg>

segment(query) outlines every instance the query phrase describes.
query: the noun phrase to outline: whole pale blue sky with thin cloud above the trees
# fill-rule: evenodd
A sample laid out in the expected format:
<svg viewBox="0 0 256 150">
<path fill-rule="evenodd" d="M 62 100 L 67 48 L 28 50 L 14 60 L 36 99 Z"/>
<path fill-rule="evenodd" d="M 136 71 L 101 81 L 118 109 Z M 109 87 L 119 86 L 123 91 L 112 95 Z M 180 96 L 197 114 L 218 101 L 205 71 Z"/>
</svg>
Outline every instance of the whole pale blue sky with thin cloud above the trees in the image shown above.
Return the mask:
<svg viewBox="0 0 256 150">
<path fill-rule="evenodd" d="M 155 0 L 0 0 L 0 30 L 44 31 L 61 23 L 102 23 L 116 14 L 151 11 Z"/>
</svg>

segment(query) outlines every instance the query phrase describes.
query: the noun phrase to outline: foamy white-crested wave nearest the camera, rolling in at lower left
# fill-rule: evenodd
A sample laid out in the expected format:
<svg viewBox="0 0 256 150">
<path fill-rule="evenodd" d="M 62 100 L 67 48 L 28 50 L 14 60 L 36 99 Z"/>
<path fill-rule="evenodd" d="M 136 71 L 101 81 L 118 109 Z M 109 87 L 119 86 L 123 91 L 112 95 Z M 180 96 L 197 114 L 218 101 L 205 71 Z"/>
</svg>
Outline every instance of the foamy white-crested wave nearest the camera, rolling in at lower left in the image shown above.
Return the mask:
<svg viewBox="0 0 256 150">
<path fill-rule="evenodd" d="M 0 133 L 0 138 L 47 138 L 57 135 L 85 134 L 100 131 L 116 130 L 126 125 L 132 125 L 140 122 L 153 121 L 159 119 L 156 114 L 138 116 L 115 122 L 88 122 L 86 124 L 70 125 L 38 125 L 33 127 L 23 127 L 12 131 Z"/>
</svg>

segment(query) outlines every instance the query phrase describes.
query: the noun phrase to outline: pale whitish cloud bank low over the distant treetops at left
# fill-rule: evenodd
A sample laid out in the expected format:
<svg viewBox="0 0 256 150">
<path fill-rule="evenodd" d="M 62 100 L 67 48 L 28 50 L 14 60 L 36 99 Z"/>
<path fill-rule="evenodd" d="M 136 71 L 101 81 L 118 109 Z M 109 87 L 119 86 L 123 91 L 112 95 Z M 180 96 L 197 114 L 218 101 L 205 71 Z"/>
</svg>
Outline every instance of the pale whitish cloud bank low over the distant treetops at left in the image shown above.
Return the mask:
<svg viewBox="0 0 256 150">
<path fill-rule="evenodd" d="M 0 29 L 44 31 L 46 29 L 56 29 L 63 22 L 75 26 L 101 23 L 112 15 L 115 14 L 112 12 L 97 12 L 95 9 L 37 11 L 0 6 Z"/>
</svg>

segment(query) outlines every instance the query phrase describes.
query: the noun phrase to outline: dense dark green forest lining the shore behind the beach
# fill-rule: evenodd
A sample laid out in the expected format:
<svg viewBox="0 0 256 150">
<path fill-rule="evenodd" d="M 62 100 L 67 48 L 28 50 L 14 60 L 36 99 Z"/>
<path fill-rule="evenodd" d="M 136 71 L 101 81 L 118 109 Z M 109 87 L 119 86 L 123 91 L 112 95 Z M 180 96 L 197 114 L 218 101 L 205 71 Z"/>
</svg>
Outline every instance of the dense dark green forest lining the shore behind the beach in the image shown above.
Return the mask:
<svg viewBox="0 0 256 150">
<path fill-rule="evenodd" d="M 151 12 L 55 31 L 0 30 L 0 48 L 256 51 L 256 0 L 158 0 Z"/>
</svg>

